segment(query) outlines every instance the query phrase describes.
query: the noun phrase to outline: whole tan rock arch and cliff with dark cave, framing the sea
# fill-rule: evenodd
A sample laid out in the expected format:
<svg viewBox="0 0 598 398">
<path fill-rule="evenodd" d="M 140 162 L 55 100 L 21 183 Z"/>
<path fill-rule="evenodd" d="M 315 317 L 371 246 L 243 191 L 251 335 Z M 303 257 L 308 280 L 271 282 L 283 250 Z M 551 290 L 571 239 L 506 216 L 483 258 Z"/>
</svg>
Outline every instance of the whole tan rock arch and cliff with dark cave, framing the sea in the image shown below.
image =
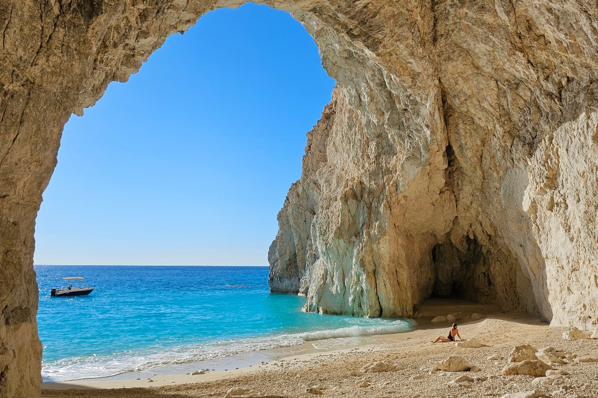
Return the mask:
<svg viewBox="0 0 598 398">
<path fill-rule="evenodd" d="M 0 396 L 39 394 L 33 229 L 62 127 L 243 0 L 0 0 Z M 598 322 L 593 1 L 276 0 L 337 81 L 270 249 L 307 310 L 429 295 Z"/>
</svg>

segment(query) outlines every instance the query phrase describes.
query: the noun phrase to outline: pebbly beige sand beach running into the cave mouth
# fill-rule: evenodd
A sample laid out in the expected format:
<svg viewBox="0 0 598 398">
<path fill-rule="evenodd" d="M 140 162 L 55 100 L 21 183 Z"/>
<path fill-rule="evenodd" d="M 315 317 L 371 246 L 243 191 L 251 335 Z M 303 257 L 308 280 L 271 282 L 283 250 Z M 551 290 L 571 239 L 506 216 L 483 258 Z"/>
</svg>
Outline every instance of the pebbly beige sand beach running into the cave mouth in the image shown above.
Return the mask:
<svg viewBox="0 0 598 398">
<path fill-rule="evenodd" d="M 447 335 L 452 323 L 431 323 L 431 317 L 456 313 L 459 313 L 456 322 L 460 335 L 464 339 L 475 338 L 487 347 L 463 348 L 454 343 L 430 343 L 439 335 Z M 483 318 L 473 320 L 473 313 L 480 313 Z M 320 394 L 339 397 L 501 397 L 532 390 L 555 397 L 598 397 L 598 362 L 570 360 L 565 365 L 555 366 L 569 375 L 553 384 L 542 384 L 541 380 L 528 375 L 503 376 L 501 373 L 515 345 L 530 344 L 538 350 L 553 346 L 571 351 L 578 357 L 598 357 L 598 340 L 564 340 L 562 334 L 566 328 L 550 327 L 526 314 L 496 313 L 494 306 L 463 301 L 432 300 L 419 308 L 418 315 L 417 330 L 376 336 L 362 340 L 359 345 L 347 346 L 347 341 L 343 341 L 343 348 L 335 349 L 334 341 L 315 341 L 300 347 L 258 351 L 259 358 L 270 360 L 261 360 L 259 365 L 252 365 L 251 359 L 239 360 L 231 362 L 240 365 L 236 366 L 239 369 L 206 374 L 48 382 L 43 384 L 42 397 L 224 397 L 231 388 L 253 390 L 239 396 L 260 394 L 270 397 Z M 461 356 L 481 370 L 429 371 L 435 362 L 451 355 Z M 498 356 L 498 359 L 489 359 L 492 356 Z M 390 369 L 367 371 L 369 364 L 380 361 L 385 361 L 385 366 Z M 462 375 L 467 376 L 465 381 L 451 382 Z"/>
</svg>

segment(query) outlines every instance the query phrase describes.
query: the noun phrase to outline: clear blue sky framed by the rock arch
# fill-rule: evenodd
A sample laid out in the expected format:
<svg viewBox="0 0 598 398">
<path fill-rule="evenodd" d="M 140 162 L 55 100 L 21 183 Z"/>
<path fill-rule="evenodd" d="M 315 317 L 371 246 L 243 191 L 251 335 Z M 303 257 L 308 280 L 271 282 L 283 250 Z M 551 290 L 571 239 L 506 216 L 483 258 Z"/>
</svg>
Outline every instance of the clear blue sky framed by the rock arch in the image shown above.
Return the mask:
<svg viewBox="0 0 598 398">
<path fill-rule="evenodd" d="M 332 87 L 289 14 L 206 14 L 66 124 L 35 264 L 267 265 Z"/>
</svg>

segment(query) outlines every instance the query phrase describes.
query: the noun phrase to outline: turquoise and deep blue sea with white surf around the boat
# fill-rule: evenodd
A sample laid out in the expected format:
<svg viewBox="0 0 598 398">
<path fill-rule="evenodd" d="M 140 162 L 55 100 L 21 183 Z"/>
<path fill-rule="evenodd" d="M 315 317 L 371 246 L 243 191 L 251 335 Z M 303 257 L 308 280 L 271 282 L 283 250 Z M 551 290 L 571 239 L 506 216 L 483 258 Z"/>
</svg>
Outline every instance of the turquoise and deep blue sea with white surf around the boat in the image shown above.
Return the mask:
<svg viewBox="0 0 598 398">
<path fill-rule="evenodd" d="M 304 313 L 267 267 L 35 266 L 45 381 L 103 377 L 304 341 L 406 331 L 402 319 Z M 83 276 L 88 296 L 50 297 Z M 84 282 L 84 283 L 86 283 Z"/>
</svg>

